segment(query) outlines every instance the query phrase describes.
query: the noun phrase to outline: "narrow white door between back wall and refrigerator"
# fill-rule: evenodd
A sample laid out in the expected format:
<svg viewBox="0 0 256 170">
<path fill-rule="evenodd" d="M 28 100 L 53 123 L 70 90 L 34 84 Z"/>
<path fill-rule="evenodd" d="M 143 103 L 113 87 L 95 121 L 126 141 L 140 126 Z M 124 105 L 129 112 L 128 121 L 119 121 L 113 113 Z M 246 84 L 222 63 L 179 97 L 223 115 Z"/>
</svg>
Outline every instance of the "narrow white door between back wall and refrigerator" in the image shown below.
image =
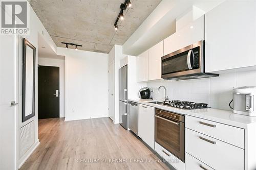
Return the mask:
<svg viewBox="0 0 256 170">
<path fill-rule="evenodd" d="M 114 120 L 114 62 L 109 65 L 109 116 Z"/>
</svg>

